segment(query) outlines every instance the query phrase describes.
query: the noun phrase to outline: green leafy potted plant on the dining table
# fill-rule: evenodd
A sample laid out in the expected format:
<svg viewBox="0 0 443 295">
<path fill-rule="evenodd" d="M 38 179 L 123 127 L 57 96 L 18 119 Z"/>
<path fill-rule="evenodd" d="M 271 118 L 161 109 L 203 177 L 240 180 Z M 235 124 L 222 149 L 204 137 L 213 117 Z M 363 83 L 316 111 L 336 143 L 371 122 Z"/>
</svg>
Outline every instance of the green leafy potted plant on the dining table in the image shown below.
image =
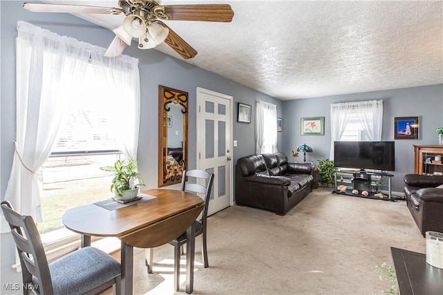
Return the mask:
<svg viewBox="0 0 443 295">
<path fill-rule="evenodd" d="M 117 160 L 114 166 L 100 167 L 104 171 L 114 171 L 112 179 L 111 191 L 118 200 L 132 200 L 136 198 L 138 187 L 145 185 L 145 181 L 141 178 L 137 170 L 137 162 L 134 158 L 127 160 Z M 137 183 L 136 183 L 137 182 Z"/>
</svg>

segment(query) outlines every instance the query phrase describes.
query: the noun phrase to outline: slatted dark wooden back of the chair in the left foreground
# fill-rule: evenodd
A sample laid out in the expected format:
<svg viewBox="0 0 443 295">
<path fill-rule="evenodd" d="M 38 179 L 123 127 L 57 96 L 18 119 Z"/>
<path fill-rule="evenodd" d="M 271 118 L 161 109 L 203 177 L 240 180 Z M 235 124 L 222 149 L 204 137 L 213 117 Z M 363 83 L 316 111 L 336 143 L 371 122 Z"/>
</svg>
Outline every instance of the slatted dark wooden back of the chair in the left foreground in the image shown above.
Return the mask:
<svg viewBox="0 0 443 295">
<path fill-rule="evenodd" d="M 51 274 L 37 225 L 32 216 L 22 216 L 12 209 L 10 202 L 1 202 L 1 210 L 11 228 L 21 263 L 23 283 L 33 284 L 33 276 L 39 281 L 40 294 L 53 294 Z M 32 257 L 32 259 L 31 259 Z M 42 284 L 42 282 L 45 282 Z"/>
</svg>

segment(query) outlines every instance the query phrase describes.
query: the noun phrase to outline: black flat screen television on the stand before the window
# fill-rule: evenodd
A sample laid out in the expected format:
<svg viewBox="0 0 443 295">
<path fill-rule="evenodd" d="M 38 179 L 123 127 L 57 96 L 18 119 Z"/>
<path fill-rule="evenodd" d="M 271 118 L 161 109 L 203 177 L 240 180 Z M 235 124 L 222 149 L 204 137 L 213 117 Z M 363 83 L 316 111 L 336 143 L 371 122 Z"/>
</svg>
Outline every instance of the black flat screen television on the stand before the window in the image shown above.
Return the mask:
<svg viewBox="0 0 443 295">
<path fill-rule="evenodd" d="M 394 171 L 394 142 L 334 142 L 334 164 L 341 168 Z"/>
</svg>

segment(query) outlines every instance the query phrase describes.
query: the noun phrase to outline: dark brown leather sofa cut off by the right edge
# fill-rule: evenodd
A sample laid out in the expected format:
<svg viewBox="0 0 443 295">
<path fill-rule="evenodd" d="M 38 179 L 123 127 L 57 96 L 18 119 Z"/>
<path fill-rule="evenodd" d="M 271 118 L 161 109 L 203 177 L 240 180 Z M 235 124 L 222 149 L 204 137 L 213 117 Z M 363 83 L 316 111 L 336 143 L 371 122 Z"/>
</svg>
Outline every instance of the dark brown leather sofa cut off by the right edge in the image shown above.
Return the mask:
<svg viewBox="0 0 443 295">
<path fill-rule="evenodd" d="M 443 233 L 443 175 L 404 176 L 406 204 L 423 236 L 426 231 Z"/>
</svg>

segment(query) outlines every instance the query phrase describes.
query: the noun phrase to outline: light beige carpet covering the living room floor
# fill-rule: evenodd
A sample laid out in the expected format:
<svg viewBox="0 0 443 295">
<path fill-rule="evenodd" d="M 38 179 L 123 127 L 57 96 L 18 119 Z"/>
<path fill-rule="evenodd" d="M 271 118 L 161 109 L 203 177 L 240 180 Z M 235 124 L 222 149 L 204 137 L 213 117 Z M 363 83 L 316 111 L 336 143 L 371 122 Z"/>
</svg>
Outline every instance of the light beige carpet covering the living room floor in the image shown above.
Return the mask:
<svg viewBox="0 0 443 295">
<path fill-rule="evenodd" d="M 193 294 L 381 294 L 376 266 L 393 267 L 390 247 L 425 253 L 406 202 L 341 196 L 314 189 L 285 216 L 233 206 L 208 218 L 209 267 L 196 240 Z M 174 294 L 173 247 L 134 256 L 134 294 Z M 185 292 L 182 256 L 181 287 Z M 106 294 L 111 294 L 106 292 Z"/>
</svg>

